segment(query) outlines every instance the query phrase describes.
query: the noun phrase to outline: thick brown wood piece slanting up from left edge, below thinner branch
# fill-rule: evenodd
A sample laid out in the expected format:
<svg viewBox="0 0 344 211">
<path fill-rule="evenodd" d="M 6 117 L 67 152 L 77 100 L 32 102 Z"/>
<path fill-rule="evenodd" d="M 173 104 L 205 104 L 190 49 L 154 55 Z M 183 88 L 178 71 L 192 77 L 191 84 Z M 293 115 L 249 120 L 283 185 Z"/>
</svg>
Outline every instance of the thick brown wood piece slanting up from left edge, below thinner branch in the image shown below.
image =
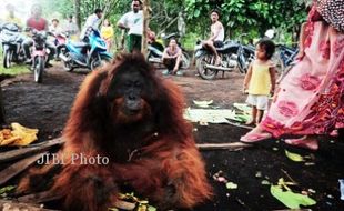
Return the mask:
<svg viewBox="0 0 344 211">
<path fill-rule="evenodd" d="M 14 164 L 11 164 L 10 167 L 6 168 L 0 172 L 0 185 L 4 184 L 7 181 L 26 170 L 28 167 L 30 167 L 32 163 L 34 163 L 38 159 L 40 159 L 42 155 L 44 155 L 47 152 L 39 153 L 32 157 L 29 157 L 27 159 L 20 160 L 16 162 Z"/>
</svg>

